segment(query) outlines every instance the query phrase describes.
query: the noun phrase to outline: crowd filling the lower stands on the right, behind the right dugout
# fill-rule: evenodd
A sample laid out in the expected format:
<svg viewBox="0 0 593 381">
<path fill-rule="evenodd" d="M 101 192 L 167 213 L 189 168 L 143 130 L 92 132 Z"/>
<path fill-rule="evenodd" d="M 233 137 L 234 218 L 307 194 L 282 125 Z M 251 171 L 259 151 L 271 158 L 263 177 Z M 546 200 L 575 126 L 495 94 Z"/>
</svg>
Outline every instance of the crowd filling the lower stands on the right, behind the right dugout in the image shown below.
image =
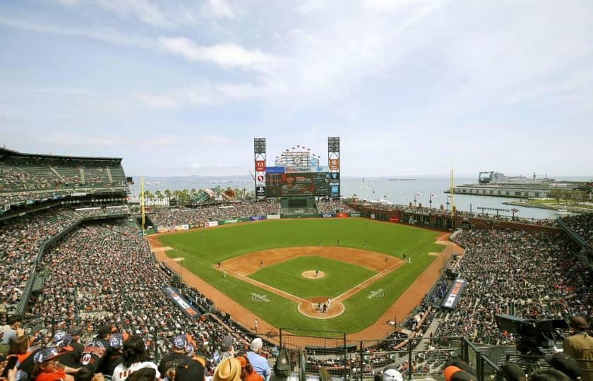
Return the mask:
<svg viewBox="0 0 593 381">
<path fill-rule="evenodd" d="M 466 248 L 460 303 L 436 336 L 463 336 L 486 344 L 513 344 L 494 315 L 529 318 L 593 317 L 593 278 L 563 234 L 519 230 L 467 230 L 455 241 Z"/>
</svg>

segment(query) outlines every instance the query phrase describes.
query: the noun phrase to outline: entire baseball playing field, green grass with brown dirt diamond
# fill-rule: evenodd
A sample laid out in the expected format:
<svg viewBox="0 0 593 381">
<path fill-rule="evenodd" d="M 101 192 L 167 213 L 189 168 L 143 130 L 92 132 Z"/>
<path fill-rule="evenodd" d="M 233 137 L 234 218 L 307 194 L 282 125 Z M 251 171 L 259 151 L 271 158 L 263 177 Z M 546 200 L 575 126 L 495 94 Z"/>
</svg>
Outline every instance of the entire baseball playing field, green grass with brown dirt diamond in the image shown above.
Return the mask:
<svg viewBox="0 0 593 381">
<path fill-rule="evenodd" d="M 195 274 L 272 327 L 352 333 L 373 325 L 405 294 L 445 248 L 436 243 L 442 235 L 361 218 L 282 219 L 150 241 L 183 267 L 182 277 Z"/>
</svg>

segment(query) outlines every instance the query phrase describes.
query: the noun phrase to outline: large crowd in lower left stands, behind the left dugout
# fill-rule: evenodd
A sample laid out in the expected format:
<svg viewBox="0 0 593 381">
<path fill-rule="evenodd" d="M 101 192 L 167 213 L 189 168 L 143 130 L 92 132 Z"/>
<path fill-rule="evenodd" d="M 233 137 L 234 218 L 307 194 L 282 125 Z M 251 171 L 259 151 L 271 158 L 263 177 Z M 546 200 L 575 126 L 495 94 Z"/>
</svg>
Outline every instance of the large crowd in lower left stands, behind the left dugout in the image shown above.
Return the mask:
<svg viewBox="0 0 593 381">
<path fill-rule="evenodd" d="M 95 332 L 109 324 L 141 337 L 156 350 L 153 354 L 167 352 L 177 335 L 190 334 L 210 372 L 228 329 L 239 329 L 214 317 L 184 315 L 162 291 L 172 270 L 155 265 L 137 227 L 124 222 L 78 227 L 44 255 L 42 269 L 44 288 L 30 301 L 28 313 L 43 327 L 82 325 Z M 215 311 L 213 301 L 198 290 L 176 286 L 196 308 Z M 238 334 L 235 344 L 242 346 L 250 338 L 246 332 Z"/>
</svg>

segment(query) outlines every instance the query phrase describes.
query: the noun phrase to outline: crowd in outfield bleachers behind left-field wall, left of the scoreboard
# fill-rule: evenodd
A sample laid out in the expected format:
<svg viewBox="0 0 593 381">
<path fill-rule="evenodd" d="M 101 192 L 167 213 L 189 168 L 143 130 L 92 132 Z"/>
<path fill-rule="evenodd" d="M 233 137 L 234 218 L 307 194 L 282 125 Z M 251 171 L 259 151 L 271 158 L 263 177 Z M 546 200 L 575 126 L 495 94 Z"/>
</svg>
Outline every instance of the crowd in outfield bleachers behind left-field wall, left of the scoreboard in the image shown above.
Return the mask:
<svg viewBox="0 0 593 381">
<path fill-rule="evenodd" d="M 195 208 L 155 209 L 148 217 L 156 226 L 202 225 L 208 221 L 278 214 L 280 204 L 266 202 L 232 202 Z"/>
</svg>

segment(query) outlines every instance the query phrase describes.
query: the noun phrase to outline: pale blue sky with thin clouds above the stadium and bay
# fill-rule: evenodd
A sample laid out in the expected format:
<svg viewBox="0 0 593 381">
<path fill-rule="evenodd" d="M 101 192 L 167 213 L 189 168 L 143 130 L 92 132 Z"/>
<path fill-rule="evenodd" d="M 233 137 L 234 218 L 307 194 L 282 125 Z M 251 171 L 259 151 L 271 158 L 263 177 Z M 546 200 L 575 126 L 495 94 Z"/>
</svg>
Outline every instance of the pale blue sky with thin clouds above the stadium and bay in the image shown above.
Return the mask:
<svg viewBox="0 0 593 381">
<path fill-rule="evenodd" d="M 255 137 L 340 136 L 344 176 L 592 176 L 591 36 L 592 1 L 2 1 L 0 144 L 226 175 Z"/>
</svg>

